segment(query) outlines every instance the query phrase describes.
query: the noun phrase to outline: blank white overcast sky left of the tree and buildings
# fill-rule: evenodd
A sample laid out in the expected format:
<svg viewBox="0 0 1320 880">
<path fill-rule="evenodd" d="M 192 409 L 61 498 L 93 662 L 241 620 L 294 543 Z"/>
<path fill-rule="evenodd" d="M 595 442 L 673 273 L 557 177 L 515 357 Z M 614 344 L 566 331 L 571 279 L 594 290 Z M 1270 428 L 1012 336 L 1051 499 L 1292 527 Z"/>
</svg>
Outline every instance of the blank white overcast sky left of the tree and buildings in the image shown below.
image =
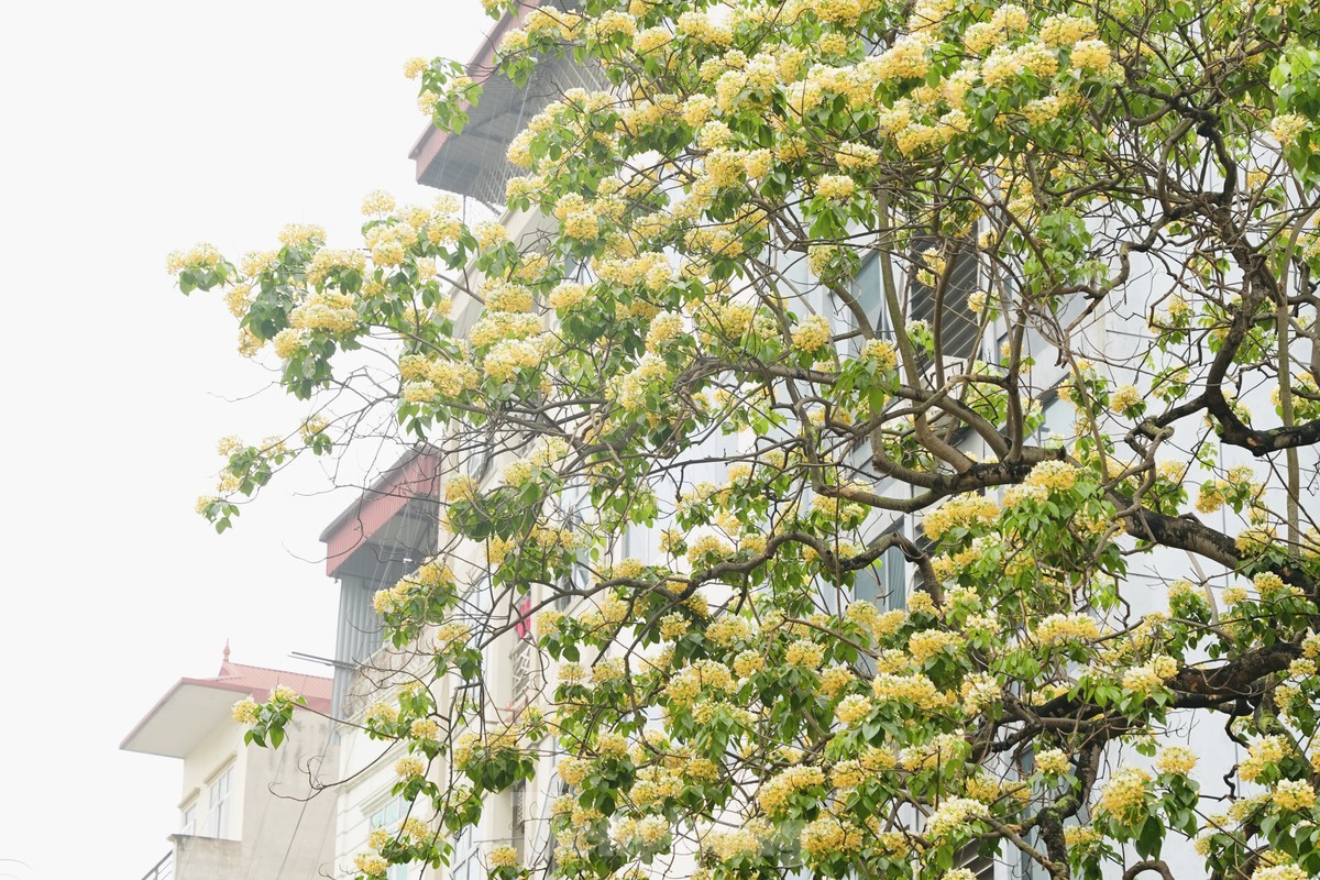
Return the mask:
<svg viewBox="0 0 1320 880">
<path fill-rule="evenodd" d="M 360 243 L 383 187 L 429 201 L 408 149 L 414 54 L 470 57 L 477 0 L 7 4 L 0 29 L 0 880 L 137 880 L 176 830 L 180 763 L 119 743 L 182 676 L 319 672 L 338 594 L 317 534 L 350 493 L 315 468 L 238 529 L 193 513 L 216 438 L 302 416 L 260 391 L 218 296 L 165 255 L 232 256 L 317 222 Z"/>
</svg>

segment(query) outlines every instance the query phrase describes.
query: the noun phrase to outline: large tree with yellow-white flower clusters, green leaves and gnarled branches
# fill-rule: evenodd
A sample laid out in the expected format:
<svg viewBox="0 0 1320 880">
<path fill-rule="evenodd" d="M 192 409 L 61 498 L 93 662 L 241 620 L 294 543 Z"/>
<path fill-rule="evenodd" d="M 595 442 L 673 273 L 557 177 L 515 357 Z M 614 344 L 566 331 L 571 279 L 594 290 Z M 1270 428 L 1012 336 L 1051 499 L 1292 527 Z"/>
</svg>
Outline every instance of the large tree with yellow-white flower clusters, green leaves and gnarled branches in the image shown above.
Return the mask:
<svg viewBox="0 0 1320 880">
<path fill-rule="evenodd" d="M 487 5 L 492 70 L 409 63 L 444 131 L 601 83 L 508 148 L 531 231 L 374 194 L 363 248 L 172 259 L 315 410 L 224 446 L 218 528 L 383 426 L 504 464 L 378 596 L 429 673 L 368 712 L 414 807 L 360 872 L 557 749 L 553 860 L 491 876 L 1320 875 L 1320 11 Z M 517 714 L 473 571 L 537 615 Z"/>
</svg>

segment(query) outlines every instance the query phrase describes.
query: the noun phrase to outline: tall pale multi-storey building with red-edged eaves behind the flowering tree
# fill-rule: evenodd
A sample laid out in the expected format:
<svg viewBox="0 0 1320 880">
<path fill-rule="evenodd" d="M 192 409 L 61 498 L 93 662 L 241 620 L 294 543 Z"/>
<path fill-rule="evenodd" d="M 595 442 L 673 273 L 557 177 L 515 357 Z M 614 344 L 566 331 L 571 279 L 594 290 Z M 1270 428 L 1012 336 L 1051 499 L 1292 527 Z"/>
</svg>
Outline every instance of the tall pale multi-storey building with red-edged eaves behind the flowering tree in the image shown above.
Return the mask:
<svg viewBox="0 0 1320 880">
<path fill-rule="evenodd" d="M 474 75 L 491 66 L 494 46 L 512 24 L 512 18 L 502 21 L 483 44 L 473 59 Z M 589 73 L 562 62 L 548 65 L 537 77 L 527 90 L 517 90 L 503 79 L 491 79 L 461 135 L 428 129 L 412 150 L 420 182 L 463 197 L 474 212 L 488 211 L 490 216 L 498 216 L 515 240 L 539 231 L 543 220 L 521 212 L 499 214 L 504 182 L 515 173 L 504 160 L 504 149 L 557 91 L 591 84 Z M 993 363 L 998 359 L 1006 329 L 994 322 L 981 322 L 970 309 L 969 298 L 978 289 L 979 281 L 975 260 L 960 255 L 952 259 L 960 263 L 942 297 L 941 321 L 945 322 L 946 335 L 940 356 L 946 365 L 961 364 L 970 369 L 977 360 Z M 805 260 L 785 256 L 783 270 L 800 289 L 814 290 L 804 303 L 807 307 L 830 315 L 838 330 L 853 329 L 849 310 L 813 284 Z M 913 321 L 932 319 L 936 309 L 935 292 L 923 286 L 915 274 L 904 278 L 903 286 L 908 317 Z M 873 323 L 882 338 L 892 334 L 894 329 L 886 326 L 887 310 L 882 301 L 878 261 L 863 261 L 851 282 L 851 294 L 874 318 Z M 1107 352 L 1119 358 L 1133 354 L 1134 340 L 1140 338 L 1144 305 L 1159 294 L 1160 290 L 1155 288 L 1143 290 L 1139 285 L 1133 285 L 1129 297 L 1135 302 L 1127 310 L 1127 317 L 1101 314 L 1076 329 L 1072 343 L 1077 352 Z M 459 331 L 470 326 L 478 310 L 479 305 L 473 299 L 457 298 L 454 319 Z M 1080 309 L 1074 309 L 1061 318 L 1067 323 L 1078 314 Z M 846 350 L 849 344 L 851 343 L 840 343 L 841 350 Z M 1059 401 L 1057 393 L 1052 391 L 1065 377 L 1067 367 L 1056 361 L 1056 347 L 1038 332 L 1027 335 L 1026 348 L 1038 364 L 1030 381 L 1039 391 L 1038 400 L 1044 408 L 1038 439 L 1044 442 L 1052 435 L 1071 437 L 1074 433 L 1072 409 Z M 1115 379 L 1129 381 L 1133 377 Z M 738 438 L 731 442 L 738 442 Z M 990 453 L 983 441 L 972 433 L 957 434 L 952 442 L 973 456 Z M 859 443 L 850 460 L 859 474 L 865 474 L 870 460 L 869 446 Z M 341 648 L 335 657 L 339 666 L 334 689 L 338 719 L 350 724 L 359 722 L 372 702 L 388 702 L 391 689 L 409 676 L 409 652 L 380 644 L 379 617 L 371 608 L 372 594 L 413 571 L 438 548 L 441 499 L 447 480 L 463 475 L 488 487 L 499 479 L 500 464 L 500 454 L 490 450 L 479 454 L 444 446 L 411 450 L 323 533 L 322 540 L 330 557 L 329 574 L 338 579 L 341 588 Z M 887 488 L 890 487 L 883 482 L 879 484 L 880 492 Z M 867 522 L 870 538 L 899 532 L 921 544 L 924 538 L 920 519 L 920 513 L 875 515 Z M 619 555 L 640 557 L 643 562 L 648 562 L 647 548 L 655 546 L 651 537 L 653 536 L 640 533 L 624 536 Z M 523 706 L 544 699 L 545 682 L 548 678 L 553 681 L 553 672 L 540 666 L 541 658 L 531 645 L 529 629 L 520 620 L 525 607 L 553 596 L 546 595 L 543 587 L 535 587 L 525 604 L 520 602 L 513 606 L 506 598 L 492 595 L 482 566 L 473 562 L 478 558 L 473 548 L 447 549 L 454 551 L 454 570 L 466 588 L 463 604 L 467 613 L 474 619 L 494 615 L 516 624 L 486 646 L 488 698 L 498 711 L 512 718 Z M 1163 584 L 1170 579 L 1170 573 L 1188 571 L 1188 567 L 1189 562 L 1183 554 L 1163 551 L 1146 567 L 1134 569 L 1129 575 L 1138 587 L 1131 591 L 1138 596 L 1134 610 L 1140 612 L 1162 607 Z M 903 607 L 917 577 L 912 569 L 900 551 L 890 550 L 876 566 L 859 577 L 851 598 L 869 599 L 884 607 Z M 574 577 L 579 575 L 585 578 L 585 571 Z M 1139 588 L 1146 586 L 1150 590 Z M 847 598 L 834 598 L 833 602 Z M 565 600 L 564 608 L 570 610 L 572 604 Z M 437 693 L 441 705 L 446 698 L 447 694 Z M 339 871 L 348 871 L 354 854 L 366 848 L 368 833 L 374 827 L 397 823 L 409 807 L 389 794 L 395 782 L 391 769 L 395 753 L 388 747 L 367 739 L 351 726 L 341 730 L 339 741 L 341 777 L 351 782 L 341 796 L 335 864 Z M 1196 731 L 1192 744 L 1208 767 L 1226 768 L 1236 760 L 1236 747 L 1216 731 Z M 524 863 L 537 867 L 548 864 L 553 840 L 545 822 L 546 807 L 561 790 L 553 768 L 554 756 L 549 755 L 537 768 L 532 782 L 492 798 L 480 825 L 457 842 L 453 864 L 447 869 L 396 865 L 389 880 L 403 880 L 405 876 L 475 880 L 480 873 L 484 850 L 506 843 L 520 851 Z M 442 769 L 438 772 L 444 773 Z M 1191 859 L 1192 855 L 1171 844 L 1168 858 Z M 997 859 L 968 852 L 965 863 L 982 880 L 1027 880 L 1039 873 L 1030 860 L 1016 854 Z M 682 873 L 677 869 L 675 876 Z"/>
</svg>

